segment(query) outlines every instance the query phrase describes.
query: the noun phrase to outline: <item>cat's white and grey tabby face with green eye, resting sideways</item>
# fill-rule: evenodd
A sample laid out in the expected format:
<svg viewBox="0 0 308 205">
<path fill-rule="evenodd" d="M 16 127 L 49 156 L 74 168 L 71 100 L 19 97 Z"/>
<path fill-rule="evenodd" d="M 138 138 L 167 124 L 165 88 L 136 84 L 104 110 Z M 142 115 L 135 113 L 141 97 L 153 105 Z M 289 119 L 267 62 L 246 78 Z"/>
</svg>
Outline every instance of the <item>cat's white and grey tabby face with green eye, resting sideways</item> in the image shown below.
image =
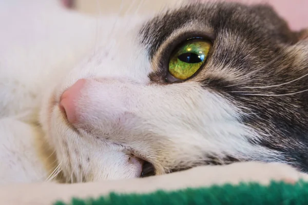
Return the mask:
<svg viewBox="0 0 308 205">
<path fill-rule="evenodd" d="M 307 43 L 272 9 L 192 4 L 105 20 L 42 110 L 67 181 L 139 177 L 144 161 L 156 174 L 237 160 L 303 168 L 307 78 L 275 85 L 308 73 Z"/>
</svg>

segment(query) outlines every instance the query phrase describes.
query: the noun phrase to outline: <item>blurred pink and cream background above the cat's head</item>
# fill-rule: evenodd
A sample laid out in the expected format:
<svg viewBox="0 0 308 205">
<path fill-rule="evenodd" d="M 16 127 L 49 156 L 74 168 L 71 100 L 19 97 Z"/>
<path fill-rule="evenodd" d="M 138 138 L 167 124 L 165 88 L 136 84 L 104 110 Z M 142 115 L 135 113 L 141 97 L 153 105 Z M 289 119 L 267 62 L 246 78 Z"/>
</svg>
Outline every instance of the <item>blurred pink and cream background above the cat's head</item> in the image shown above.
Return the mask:
<svg viewBox="0 0 308 205">
<path fill-rule="evenodd" d="M 69 1 L 69 0 L 64 0 Z M 191 0 L 195 1 L 195 0 Z M 206 1 L 206 0 L 203 0 Z M 220 0 L 216 0 L 220 1 Z M 274 6 L 276 11 L 284 17 L 291 28 L 299 30 L 308 27 L 308 0 L 226 0 L 228 2 L 244 2 L 248 4 L 268 3 Z M 177 0 L 75 0 L 74 9 L 84 13 L 97 15 L 101 13 L 119 11 L 121 13 L 148 12 L 159 9 L 166 2 L 177 2 Z"/>
</svg>

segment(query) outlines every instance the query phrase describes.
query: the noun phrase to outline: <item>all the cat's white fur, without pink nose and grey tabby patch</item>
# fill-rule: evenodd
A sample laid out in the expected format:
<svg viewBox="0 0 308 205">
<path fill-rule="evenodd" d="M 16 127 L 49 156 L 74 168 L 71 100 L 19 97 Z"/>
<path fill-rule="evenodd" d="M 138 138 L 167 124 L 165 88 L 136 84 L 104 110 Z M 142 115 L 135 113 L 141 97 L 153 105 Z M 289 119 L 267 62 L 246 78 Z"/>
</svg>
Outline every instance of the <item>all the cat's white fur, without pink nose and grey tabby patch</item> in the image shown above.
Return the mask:
<svg viewBox="0 0 308 205">
<path fill-rule="evenodd" d="M 150 84 L 153 68 L 138 43 L 147 16 L 97 20 L 40 0 L 2 2 L 0 13 L 6 27 L 0 33 L 0 156 L 9 168 L 0 169 L 0 183 L 40 181 L 53 171 L 42 171 L 34 148 L 38 121 L 35 129 L 42 128 L 40 138 L 55 152 L 67 182 L 137 177 L 131 154 L 151 162 L 158 174 L 201 163 L 206 153 L 276 156 L 248 143 L 247 136 L 258 135 L 239 122 L 239 110 L 223 96 L 194 82 Z M 80 124 L 72 128 L 59 101 L 81 78 Z"/>
</svg>

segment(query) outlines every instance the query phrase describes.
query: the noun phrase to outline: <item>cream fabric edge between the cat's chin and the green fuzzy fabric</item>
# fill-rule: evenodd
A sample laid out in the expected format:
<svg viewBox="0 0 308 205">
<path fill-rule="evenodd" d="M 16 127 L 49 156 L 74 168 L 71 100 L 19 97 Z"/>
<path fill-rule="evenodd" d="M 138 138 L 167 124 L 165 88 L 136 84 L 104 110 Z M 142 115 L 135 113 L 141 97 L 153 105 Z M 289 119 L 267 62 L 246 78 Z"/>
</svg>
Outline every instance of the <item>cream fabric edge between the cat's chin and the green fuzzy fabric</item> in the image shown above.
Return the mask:
<svg viewBox="0 0 308 205">
<path fill-rule="evenodd" d="M 0 187 L 3 204 L 49 205 L 56 200 L 70 203 L 72 197 L 98 198 L 116 193 L 149 193 L 157 190 L 178 190 L 187 187 L 211 186 L 213 183 L 237 184 L 239 181 L 255 181 L 267 185 L 269 179 L 295 182 L 306 175 L 285 164 L 241 162 L 226 166 L 197 167 L 155 177 L 124 179 L 116 181 L 88 182 L 73 185 L 59 183 L 35 183 Z M 18 197 L 16 197 L 18 193 Z M 34 197 L 35 196 L 35 197 Z M 106 197 L 107 197 L 106 196 Z M 224 196 L 221 196 L 224 197 Z"/>
</svg>

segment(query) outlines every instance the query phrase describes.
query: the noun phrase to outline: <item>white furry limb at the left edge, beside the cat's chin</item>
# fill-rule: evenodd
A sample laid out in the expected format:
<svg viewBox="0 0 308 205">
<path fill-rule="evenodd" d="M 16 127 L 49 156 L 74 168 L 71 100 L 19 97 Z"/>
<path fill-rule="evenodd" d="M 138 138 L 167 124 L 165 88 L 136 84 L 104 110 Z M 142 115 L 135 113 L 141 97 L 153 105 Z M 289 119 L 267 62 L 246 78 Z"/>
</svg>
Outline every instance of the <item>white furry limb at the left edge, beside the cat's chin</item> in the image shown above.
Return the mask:
<svg viewBox="0 0 308 205">
<path fill-rule="evenodd" d="M 0 119 L 0 183 L 33 182 L 47 178 L 36 152 L 35 138 L 40 135 L 40 130 L 25 122 Z"/>
</svg>

